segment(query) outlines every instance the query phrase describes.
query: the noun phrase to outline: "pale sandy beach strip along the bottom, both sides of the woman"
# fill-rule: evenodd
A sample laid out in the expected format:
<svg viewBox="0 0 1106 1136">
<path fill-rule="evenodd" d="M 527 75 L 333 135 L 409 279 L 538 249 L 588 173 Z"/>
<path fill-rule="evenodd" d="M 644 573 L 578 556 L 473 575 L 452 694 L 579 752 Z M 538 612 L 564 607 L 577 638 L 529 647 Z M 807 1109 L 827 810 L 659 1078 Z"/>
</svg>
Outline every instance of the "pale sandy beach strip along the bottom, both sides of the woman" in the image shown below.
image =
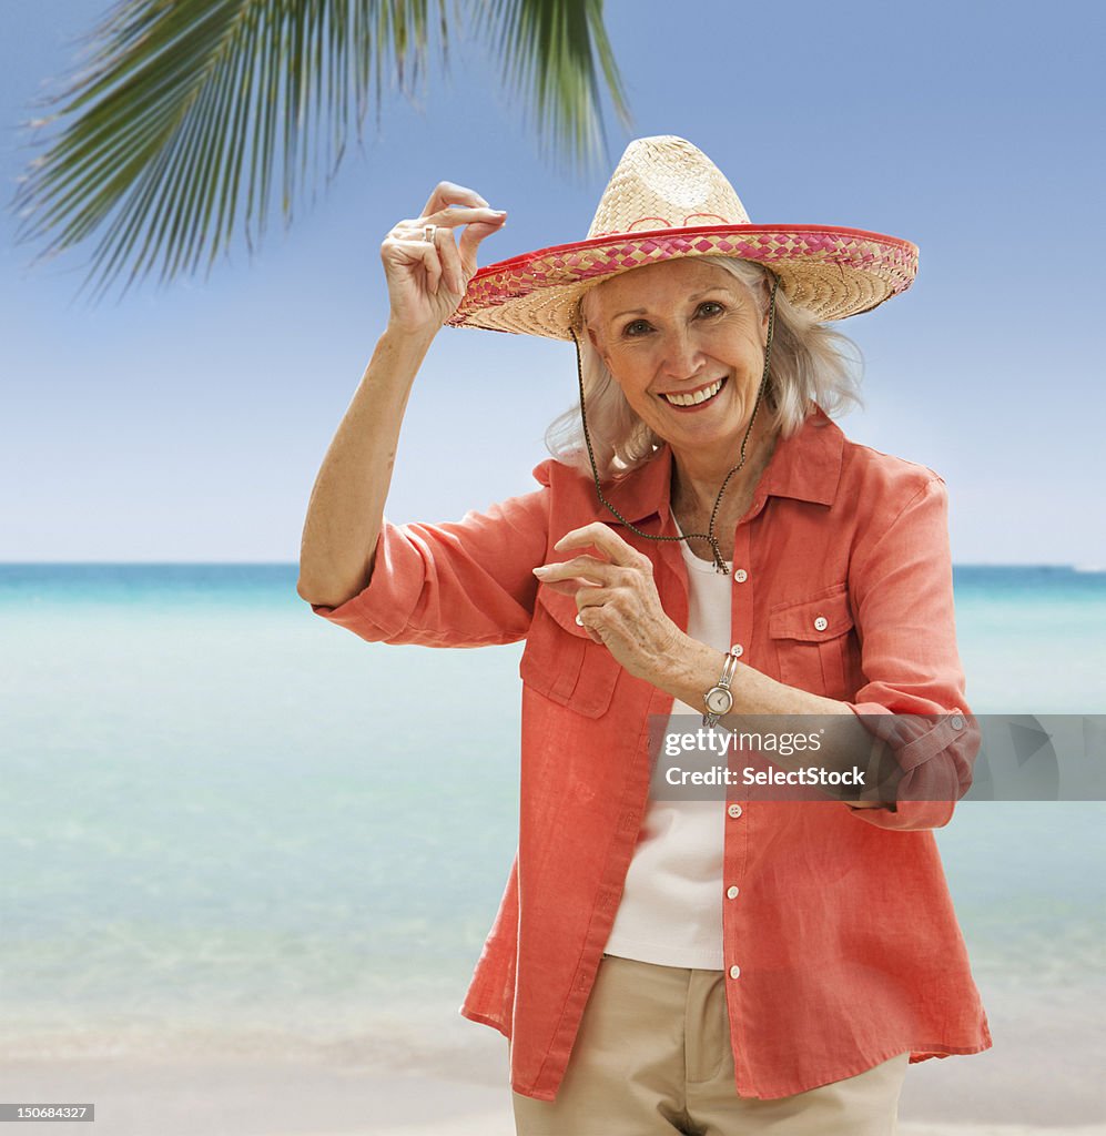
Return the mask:
<svg viewBox="0 0 1106 1136">
<path fill-rule="evenodd" d="M 114 1058 L 8 1050 L 0 1100 L 93 1103 L 98 1136 L 513 1136 L 505 1041 L 458 1019 L 436 1042 L 417 1071 L 407 1046 L 388 1055 L 368 1038 L 293 1058 L 140 1058 L 133 1044 Z M 1033 1071 L 1031 1054 L 1013 1045 L 911 1066 L 900 1136 L 1106 1136 L 1106 1097 L 1090 1063 L 1047 1083 Z M 90 1131 L 51 1127 L 70 1130 Z"/>
</svg>

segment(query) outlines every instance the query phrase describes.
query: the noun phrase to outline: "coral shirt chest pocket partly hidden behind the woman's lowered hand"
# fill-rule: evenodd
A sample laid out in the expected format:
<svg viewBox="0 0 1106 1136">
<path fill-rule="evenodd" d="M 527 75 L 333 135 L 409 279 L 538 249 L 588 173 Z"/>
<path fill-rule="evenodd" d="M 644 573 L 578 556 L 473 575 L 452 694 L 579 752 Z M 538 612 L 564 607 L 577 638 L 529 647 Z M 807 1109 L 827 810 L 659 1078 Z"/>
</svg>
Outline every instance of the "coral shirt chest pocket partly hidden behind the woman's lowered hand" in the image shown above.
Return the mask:
<svg viewBox="0 0 1106 1136">
<path fill-rule="evenodd" d="M 576 599 L 539 587 L 519 676 L 527 686 L 588 718 L 604 715 L 621 665 L 576 621 Z"/>
</svg>

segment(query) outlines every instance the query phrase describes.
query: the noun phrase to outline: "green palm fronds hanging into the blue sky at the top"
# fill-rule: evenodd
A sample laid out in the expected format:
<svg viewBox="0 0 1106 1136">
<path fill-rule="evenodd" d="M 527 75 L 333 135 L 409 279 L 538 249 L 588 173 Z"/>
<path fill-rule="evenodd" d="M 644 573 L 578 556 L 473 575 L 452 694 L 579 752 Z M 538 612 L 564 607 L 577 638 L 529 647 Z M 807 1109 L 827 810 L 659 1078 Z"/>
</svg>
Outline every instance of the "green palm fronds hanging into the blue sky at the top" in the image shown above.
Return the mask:
<svg viewBox="0 0 1106 1136">
<path fill-rule="evenodd" d="M 470 6 L 504 81 L 533 99 L 542 143 L 594 158 L 600 72 L 628 122 L 602 0 Z M 277 178 L 288 225 L 320 159 L 336 173 L 351 117 L 359 139 L 374 102 L 379 123 L 383 81 L 413 97 L 431 7 L 447 66 L 458 16 L 445 0 L 119 0 L 47 100 L 56 109 L 28 124 L 44 152 L 15 197 L 20 240 L 47 242 L 45 259 L 95 239 L 85 286 L 98 294 L 125 272 L 124 291 L 157 267 L 161 283 L 210 273 L 236 232 L 252 252 Z"/>
</svg>

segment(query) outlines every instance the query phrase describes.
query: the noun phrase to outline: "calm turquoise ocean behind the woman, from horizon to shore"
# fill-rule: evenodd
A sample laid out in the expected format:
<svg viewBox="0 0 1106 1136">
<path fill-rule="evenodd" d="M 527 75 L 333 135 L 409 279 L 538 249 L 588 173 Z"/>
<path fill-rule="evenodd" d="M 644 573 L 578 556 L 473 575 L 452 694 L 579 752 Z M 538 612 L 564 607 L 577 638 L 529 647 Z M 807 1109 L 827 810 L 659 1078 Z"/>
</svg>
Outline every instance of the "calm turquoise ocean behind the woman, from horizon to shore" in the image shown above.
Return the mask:
<svg viewBox="0 0 1106 1136">
<path fill-rule="evenodd" d="M 516 846 L 521 645 L 369 644 L 295 580 L 0 566 L 8 1059 L 417 1060 L 456 1014 Z M 955 590 L 974 712 L 1106 713 L 1106 574 Z M 963 802 L 936 836 L 992 1029 L 1106 1067 L 1106 804 Z"/>
</svg>

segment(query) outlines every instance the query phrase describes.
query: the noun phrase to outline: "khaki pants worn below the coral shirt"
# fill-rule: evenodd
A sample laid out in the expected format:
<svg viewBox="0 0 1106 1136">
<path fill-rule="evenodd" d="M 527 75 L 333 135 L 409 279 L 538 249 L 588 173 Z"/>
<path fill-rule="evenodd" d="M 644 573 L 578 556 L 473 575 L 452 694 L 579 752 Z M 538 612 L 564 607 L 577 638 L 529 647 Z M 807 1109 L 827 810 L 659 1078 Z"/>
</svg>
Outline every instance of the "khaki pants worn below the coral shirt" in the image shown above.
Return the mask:
<svg viewBox="0 0 1106 1136">
<path fill-rule="evenodd" d="M 908 1053 L 794 1096 L 739 1096 L 724 982 L 604 954 L 556 1099 L 511 1094 L 518 1136 L 893 1136 Z"/>
</svg>

